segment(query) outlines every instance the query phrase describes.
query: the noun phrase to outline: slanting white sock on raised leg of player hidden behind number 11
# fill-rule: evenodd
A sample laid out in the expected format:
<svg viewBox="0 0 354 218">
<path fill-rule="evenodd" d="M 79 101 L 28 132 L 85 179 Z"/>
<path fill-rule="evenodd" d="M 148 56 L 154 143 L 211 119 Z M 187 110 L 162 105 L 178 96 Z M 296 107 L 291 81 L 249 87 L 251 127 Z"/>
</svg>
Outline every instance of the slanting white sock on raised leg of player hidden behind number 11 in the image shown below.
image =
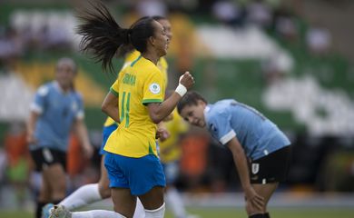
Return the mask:
<svg viewBox="0 0 354 218">
<path fill-rule="evenodd" d="M 76 208 L 100 200 L 102 200 L 102 197 L 98 192 L 98 183 L 93 183 L 85 184 L 80 187 L 74 193 L 64 198 L 64 200 L 59 204 L 63 205 L 69 211 L 73 211 Z"/>
</svg>

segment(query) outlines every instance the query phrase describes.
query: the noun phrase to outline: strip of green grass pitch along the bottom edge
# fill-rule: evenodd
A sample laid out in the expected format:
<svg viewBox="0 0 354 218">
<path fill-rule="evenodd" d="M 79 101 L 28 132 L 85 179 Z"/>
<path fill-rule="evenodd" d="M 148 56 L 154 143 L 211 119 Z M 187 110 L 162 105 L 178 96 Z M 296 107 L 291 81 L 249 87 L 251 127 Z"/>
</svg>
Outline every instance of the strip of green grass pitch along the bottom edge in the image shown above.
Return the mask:
<svg viewBox="0 0 354 218">
<path fill-rule="evenodd" d="M 246 218 L 241 208 L 189 208 L 191 213 L 202 218 Z M 354 208 L 274 208 L 270 211 L 271 218 L 353 218 Z M 166 218 L 172 218 L 167 211 Z M 31 213 L 0 211 L 0 218 L 33 218 Z"/>
</svg>

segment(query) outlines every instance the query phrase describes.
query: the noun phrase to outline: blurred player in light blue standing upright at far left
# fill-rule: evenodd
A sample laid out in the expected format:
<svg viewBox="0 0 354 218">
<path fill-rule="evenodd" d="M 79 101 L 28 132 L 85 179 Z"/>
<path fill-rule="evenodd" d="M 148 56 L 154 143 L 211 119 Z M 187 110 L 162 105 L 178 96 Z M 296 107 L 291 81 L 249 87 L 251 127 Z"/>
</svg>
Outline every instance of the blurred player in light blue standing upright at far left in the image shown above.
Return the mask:
<svg viewBox="0 0 354 218">
<path fill-rule="evenodd" d="M 34 97 L 27 124 L 27 142 L 35 170 L 42 173 L 35 217 L 40 218 L 46 203 L 59 203 L 66 194 L 65 168 L 70 130 L 74 125 L 84 152 L 93 153 L 86 126 L 84 105 L 74 90 L 76 64 L 62 58 L 56 64 L 55 80 L 42 85 Z"/>
</svg>

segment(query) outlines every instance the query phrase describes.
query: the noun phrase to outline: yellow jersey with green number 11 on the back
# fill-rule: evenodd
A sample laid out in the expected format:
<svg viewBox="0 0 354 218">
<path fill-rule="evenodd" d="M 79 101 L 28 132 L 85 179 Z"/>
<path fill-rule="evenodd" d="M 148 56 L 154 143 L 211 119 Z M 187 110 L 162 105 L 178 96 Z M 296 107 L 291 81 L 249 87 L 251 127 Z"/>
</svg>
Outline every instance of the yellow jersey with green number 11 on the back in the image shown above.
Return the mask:
<svg viewBox="0 0 354 218">
<path fill-rule="evenodd" d="M 119 96 L 121 124 L 108 138 L 104 150 L 129 157 L 157 156 L 156 124 L 152 123 L 146 104 L 162 103 L 165 92 L 162 72 L 139 56 L 123 68 L 111 92 Z"/>
</svg>

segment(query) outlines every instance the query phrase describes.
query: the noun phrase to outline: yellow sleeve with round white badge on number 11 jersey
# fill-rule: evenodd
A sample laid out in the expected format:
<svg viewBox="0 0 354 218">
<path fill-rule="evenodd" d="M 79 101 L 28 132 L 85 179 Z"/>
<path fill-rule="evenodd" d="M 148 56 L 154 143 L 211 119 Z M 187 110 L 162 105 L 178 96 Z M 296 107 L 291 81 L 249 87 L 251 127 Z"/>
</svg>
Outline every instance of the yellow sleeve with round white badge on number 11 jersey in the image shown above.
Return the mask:
<svg viewBox="0 0 354 218">
<path fill-rule="evenodd" d="M 164 91 L 162 73 L 156 69 L 143 82 L 143 104 L 162 103 Z"/>
</svg>

